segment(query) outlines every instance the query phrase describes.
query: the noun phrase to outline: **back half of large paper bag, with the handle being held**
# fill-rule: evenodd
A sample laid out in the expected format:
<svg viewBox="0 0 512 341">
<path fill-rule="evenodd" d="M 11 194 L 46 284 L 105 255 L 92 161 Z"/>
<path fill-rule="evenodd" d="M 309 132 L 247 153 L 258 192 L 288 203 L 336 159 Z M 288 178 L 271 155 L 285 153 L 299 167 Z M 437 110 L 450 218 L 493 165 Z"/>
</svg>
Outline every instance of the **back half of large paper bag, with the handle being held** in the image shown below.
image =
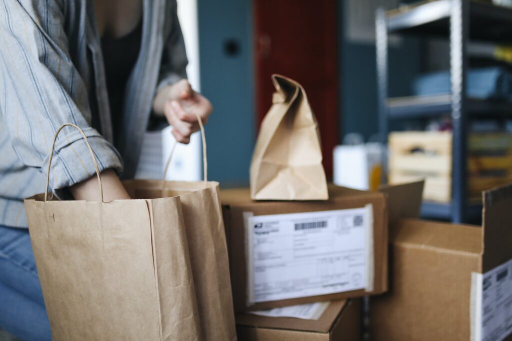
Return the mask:
<svg viewBox="0 0 512 341">
<path fill-rule="evenodd" d="M 232 341 L 237 335 L 219 183 L 207 181 L 206 140 L 200 117 L 198 121 L 203 143 L 203 181 L 135 179 L 124 181 L 124 187 L 137 198 L 180 197 L 202 334 L 208 341 Z"/>
</svg>

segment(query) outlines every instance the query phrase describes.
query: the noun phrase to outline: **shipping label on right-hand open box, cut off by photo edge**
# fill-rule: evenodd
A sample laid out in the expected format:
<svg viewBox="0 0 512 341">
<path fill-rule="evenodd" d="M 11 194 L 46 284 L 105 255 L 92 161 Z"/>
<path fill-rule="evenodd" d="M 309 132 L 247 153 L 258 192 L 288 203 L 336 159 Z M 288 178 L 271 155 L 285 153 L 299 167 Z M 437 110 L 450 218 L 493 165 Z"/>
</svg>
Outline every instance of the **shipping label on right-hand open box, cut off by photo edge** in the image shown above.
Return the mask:
<svg viewBox="0 0 512 341">
<path fill-rule="evenodd" d="M 501 341 L 512 333 L 512 260 L 472 273 L 471 339 Z"/>
</svg>

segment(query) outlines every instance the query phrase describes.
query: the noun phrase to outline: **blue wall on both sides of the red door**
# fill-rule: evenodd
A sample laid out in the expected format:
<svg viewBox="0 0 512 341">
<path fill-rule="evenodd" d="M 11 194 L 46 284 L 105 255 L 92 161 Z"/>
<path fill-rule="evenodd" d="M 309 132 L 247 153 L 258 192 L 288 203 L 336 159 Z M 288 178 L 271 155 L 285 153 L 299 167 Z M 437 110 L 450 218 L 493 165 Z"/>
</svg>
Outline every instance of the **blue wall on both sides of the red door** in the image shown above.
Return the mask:
<svg viewBox="0 0 512 341">
<path fill-rule="evenodd" d="M 378 132 L 375 47 L 344 37 L 344 2 L 338 2 L 340 111 L 339 142 L 348 132 L 366 139 Z M 254 136 L 252 1 L 198 0 L 201 89 L 214 105 L 206 134 L 209 178 L 223 186 L 247 185 Z M 239 54 L 224 52 L 224 42 L 240 44 Z M 406 51 L 407 53 L 403 53 Z M 390 51 L 390 95 L 406 95 L 419 71 L 421 52 L 404 39 Z"/>
</svg>

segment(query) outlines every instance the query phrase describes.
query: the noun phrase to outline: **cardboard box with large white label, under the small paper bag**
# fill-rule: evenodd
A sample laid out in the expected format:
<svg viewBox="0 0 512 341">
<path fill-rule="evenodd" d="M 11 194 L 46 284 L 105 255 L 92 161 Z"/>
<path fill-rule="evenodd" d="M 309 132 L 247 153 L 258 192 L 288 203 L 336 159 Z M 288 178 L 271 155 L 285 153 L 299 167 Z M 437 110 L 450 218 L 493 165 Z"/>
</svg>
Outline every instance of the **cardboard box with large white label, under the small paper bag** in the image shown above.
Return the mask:
<svg viewBox="0 0 512 341">
<path fill-rule="evenodd" d="M 248 189 L 221 191 L 236 312 L 361 297 L 387 290 L 388 218 L 385 195 L 330 186 L 329 197 L 323 201 L 253 201 Z M 369 215 L 354 215 L 354 212 L 359 212 L 357 210 Z M 321 215 L 322 219 L 312 219 L 307 214 L 312 212 Z M 336 215 L 339 212 L 346 215 Z M 295 213 L 306 216 L 286 217 L 295 226 L 285 226 L 280 215 Z M 261 216 L 272 221 L 248 226 L 248 217 Z M 365 238 L 360 234 L 363 231 L 360 228 L 364 226 L 358 226 L 358 223 L 368 225 L 366 240 L 361 240 Z M 333 245 L 337 236 L 348 244 Z M 259 249 L 251 250 L 253 244 Z M 258 262 L 262 258 L 268 263 L 264 265 L 265 269 L 261 266 L 263 261 Z M 250 262 L 255 264 L 252 270 Z M 297 267 L 297 264 L 304 267 Z M 292 269 L 293 266 L 295 268 Z M 365 273 L 354 272 L 358 266 Z M 314 267 L 316 283 L 304 275 L 305 267 Z M 287 270 L 293 275 L 286 277 Z M 261 277 L 285 274 L 286 278 L 279 283 L 261 284 L 260 299 L 251 299 L 250 291 L 256 291 L 254 287 L 258 286 L 253 275 L 256 271 L 260 274 L 266 271 Z M 298 277 L 292 278 L 294 275 Z M 322 282 L 324 280 L 325 283 Z M 295 290 L 295 286 L 303 286 L 304 289 Z M 311 288 L 314 286 L 317 287 Z M 357 289 L 350 289 L 354 286 Z"/>
</svg>

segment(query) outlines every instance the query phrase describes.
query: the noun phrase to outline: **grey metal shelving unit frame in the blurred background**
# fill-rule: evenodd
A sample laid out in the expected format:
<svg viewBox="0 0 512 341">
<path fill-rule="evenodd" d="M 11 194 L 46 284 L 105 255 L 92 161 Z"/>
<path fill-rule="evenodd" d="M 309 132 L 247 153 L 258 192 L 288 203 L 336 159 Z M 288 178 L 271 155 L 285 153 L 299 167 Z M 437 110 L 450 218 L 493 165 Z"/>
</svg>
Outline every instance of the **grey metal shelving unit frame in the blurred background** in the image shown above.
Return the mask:
<svg viewBox="0 0 512 341">
<path fill-rule="evenodd" d="M 415 34 L 450 40 L 451 94 L 432 98 L 388 98 L 388 35 Z M 435 0 L 392 11 L 377 10 L 376 48 L 379 124 L 387 144 L 391 120 L 435 118 L 449 113 L 453 125 L 452 202 L 425 202 L 422 216 L 467 222 L 478 219 L 481 206 L 466 201 L 468 120 L 511 118 L 512 104 L 465 96 L 468 40 L 512 42 L 512 10 L 469 0 Z M 387 163 L 384 165 L 387 168 Z"/>
</svg>

